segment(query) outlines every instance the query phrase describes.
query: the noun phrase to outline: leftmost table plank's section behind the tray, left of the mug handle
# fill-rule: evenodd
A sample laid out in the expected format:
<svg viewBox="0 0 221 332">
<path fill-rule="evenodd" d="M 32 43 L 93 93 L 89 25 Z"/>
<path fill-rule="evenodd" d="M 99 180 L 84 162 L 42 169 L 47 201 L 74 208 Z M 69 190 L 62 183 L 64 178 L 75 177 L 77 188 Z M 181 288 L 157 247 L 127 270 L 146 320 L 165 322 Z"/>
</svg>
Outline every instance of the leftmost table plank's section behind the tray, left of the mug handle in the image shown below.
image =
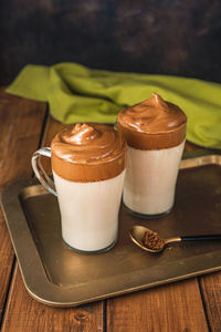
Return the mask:
<svg viewBox="0 0 221 332">
<path fill-rule="evenodd" d="M 15 97 L 0 90 L 0 189 L 31 176 L 31 155 L 38 148 L 45 104 Z"/>
</svg>

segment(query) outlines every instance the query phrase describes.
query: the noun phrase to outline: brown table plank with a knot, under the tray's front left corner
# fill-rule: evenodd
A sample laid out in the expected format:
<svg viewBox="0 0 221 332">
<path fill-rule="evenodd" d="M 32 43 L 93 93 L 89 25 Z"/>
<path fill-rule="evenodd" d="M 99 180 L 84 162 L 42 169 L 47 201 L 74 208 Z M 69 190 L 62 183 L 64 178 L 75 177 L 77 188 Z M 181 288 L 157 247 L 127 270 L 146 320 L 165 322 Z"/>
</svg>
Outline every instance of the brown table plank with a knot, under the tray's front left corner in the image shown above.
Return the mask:
<svg viewBox="0 0 221 332">
<path fill-rule="evenodd" d="M 49 117 L 42 146 L 49 146 L 53 136 L 63 127 L 64 125 Z M 45 163 L 44 166 L 50 172 L 49 159 L 45 158 Z M 103 317 L 104 302 L 102 301 L 70 309 L 50 308 L 39 303 L 28 294 L 17 267 L 2 332 L 102 332 L 104 331 Z"/>
</svg>

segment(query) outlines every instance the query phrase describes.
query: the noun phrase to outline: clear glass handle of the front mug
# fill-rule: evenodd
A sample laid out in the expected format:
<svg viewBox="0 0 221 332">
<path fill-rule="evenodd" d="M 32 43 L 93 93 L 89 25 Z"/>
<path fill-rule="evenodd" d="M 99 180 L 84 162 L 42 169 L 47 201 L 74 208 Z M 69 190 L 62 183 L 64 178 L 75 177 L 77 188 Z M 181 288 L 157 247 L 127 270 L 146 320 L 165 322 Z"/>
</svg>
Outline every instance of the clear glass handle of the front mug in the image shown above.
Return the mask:
<svg viewBox="0 0 221 332">
<path fill-rule="evenodd" d="M 51 147 L 42 147 L 33 153 L 31 164 L 36 178 L 44 186 L 44 188 L 46 188 L 54 196 L 57 196 L 54 181 L 49 177 L 49 175 L 46 175 L 42 167 L 40 160 L 41 156 L 51 158 Z"/>
</svg>

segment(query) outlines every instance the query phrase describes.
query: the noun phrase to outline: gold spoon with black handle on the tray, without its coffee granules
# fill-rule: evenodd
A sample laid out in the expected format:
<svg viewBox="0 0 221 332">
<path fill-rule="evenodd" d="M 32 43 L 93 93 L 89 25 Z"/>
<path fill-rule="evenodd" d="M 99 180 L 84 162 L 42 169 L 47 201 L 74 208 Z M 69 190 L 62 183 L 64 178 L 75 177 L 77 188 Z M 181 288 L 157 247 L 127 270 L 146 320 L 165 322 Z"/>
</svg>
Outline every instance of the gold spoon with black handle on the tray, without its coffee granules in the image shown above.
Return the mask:
<svg viewBox="0 0 221 332">
<path fill-rule="evenodd" d="M 221 240 L 221 235 L 203 235 L 203 236 L 187 236 L 187 237 L 172 237 L 168 239 L 161 239 L 164 241 L 164 246 L 160 249 L 151 249 L 144 246 L 141 239 L 146 231 L 152 232 L 151 229 L 144 226 L 133 226 L 129 229 L 129 237 L 135 245 L 139 248 L 152 252 L 159 253 L 161 252 L 168 243 L 171 242 L 181 242 L 181 241 L 204 241 L 204 240 Z"/>
</svg>

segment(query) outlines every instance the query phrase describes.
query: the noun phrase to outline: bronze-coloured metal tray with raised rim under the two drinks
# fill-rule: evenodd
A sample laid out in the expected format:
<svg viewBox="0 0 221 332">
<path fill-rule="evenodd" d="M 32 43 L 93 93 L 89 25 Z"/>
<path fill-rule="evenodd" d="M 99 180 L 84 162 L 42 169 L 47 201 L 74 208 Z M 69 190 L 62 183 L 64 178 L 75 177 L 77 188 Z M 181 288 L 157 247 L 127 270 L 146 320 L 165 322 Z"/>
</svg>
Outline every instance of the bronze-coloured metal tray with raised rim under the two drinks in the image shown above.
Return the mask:
<svg viewBox="0 0 221 332">
<path fill-rule="evenodd" d="M 135 224 L 165 238 L 221 234 L 220 155 L 193 155 L 181 162 L 176 203 L 168 216 L 139 219 L 122 206 L 118 241 L 106 253 L 75 253 L 63 243 L 56 198 L 34 179 L 9 186 L 1 204 L 24 284 L 45 304 L 74 307 L 221 268 L 220 241 L 173 245 L 151 256 L 128 236 Z"/>
</svg>

